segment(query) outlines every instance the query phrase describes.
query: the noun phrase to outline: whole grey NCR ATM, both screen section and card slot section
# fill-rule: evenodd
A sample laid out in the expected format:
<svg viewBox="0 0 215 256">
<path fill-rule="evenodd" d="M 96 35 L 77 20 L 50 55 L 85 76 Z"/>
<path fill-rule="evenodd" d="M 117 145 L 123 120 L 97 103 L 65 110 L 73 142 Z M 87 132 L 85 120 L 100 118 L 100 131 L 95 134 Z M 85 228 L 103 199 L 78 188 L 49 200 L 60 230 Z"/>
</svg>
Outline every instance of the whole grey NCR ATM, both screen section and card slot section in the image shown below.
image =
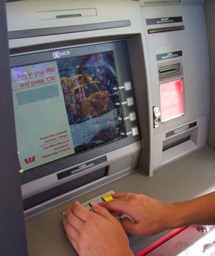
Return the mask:
<svg viewBox="0 0 215 256">
<path fill-rule="evenodd" d="M 27 221 L 59 221 L 74 198 L 206 144 L 201 0 L 19 0 L 6 12 Z"/>
</svg>

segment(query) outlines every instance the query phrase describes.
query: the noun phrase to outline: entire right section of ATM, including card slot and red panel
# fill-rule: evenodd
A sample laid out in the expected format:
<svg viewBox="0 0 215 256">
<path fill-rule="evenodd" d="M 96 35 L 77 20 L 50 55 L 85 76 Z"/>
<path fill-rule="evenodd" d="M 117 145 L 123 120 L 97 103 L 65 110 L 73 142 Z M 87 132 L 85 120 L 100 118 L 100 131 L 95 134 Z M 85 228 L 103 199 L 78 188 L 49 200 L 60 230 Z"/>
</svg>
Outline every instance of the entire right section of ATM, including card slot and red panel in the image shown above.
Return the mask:
<svg viewBox="0 0 215 256">
<path fill-rule="evenodd" d="M 152 175 L 206 143 L 209 55 L 202 1 L 143 0 L 140 6 L 150 79 Z"/>
</svg>

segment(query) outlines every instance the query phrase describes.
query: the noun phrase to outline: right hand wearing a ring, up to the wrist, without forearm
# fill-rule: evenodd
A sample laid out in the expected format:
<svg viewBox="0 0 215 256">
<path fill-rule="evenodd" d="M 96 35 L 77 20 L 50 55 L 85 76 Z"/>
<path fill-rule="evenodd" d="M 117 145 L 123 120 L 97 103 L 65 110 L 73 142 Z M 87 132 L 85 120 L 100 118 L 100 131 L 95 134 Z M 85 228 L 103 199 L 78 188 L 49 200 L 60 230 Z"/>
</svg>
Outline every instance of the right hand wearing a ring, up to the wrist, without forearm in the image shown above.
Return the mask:
<svg viewBox="0 0 215 256">
<path fill-rule="evenodd" d="M 126 232 L 135 235 L 151 235 L 171 229 L 174 206 L 148 196 L 134 193 L 115 193 L 113 200 L 100 203 L 114 216 L 127 214 L 121 224 Z"/>
</svg>

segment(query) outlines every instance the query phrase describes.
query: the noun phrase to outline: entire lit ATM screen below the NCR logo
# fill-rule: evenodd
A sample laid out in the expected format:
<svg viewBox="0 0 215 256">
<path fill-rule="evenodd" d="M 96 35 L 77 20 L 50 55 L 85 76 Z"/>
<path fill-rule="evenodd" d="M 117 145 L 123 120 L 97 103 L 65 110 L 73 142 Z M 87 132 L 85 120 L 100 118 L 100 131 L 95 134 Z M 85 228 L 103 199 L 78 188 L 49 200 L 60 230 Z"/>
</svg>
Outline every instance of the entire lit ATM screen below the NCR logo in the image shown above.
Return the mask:
<svg viewBox="0 0 215 256">
<path fill-rule="evenodd" d="M 22 170 L 125 137 L 112 50 L 15 65 L 11 78 Z"/>
</svg>

